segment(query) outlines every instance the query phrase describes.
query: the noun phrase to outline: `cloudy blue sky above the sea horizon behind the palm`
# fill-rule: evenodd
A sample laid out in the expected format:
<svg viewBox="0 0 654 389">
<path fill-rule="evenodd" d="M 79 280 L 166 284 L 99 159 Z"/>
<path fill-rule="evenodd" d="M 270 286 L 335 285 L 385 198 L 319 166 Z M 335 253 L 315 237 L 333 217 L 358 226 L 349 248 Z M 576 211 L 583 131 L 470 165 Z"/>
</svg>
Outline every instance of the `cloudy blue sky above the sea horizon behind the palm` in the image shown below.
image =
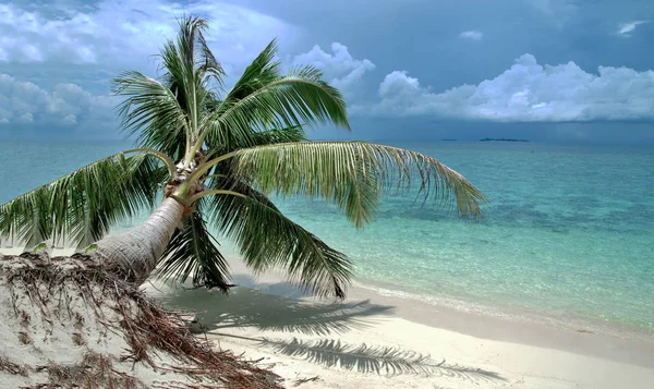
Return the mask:
<svg viewBox="0 0 654 389">
<path fill-rule="evenodd" d="M 654 144 L 651 0 L 0 0 L 0 138 L 121 138 L 110 80 L 209 20 L 227 84 L 272 38 L 348 101 L 313 138 Z"/>
</svg>

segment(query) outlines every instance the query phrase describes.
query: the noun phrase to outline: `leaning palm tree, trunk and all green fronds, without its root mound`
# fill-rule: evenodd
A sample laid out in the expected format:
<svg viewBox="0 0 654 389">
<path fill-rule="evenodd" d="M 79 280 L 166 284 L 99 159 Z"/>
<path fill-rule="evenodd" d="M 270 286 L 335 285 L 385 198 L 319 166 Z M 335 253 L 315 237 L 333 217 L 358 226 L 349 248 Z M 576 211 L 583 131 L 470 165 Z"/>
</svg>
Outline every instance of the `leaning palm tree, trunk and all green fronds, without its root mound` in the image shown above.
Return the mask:
<svg viewBox="0 0 654 389">
<path fill-rule="evenodd" d="M 314 66 L 282 75 L 276 41 L 223 93 L 225 72 L 206 28 L 199 17 L 181 20 L 179 35 L 160 52 L 158 80 L 138 72 L 114 80 L 124 97 L 122 129 L 136 135 L 137 148 L 0 206 L 0 235 L 27 247 L 49 239 L 73 243 L 136 284 L 158 268 L 227 290 L 214 227 L 254 270 L 281 267 L 313 293 L 342 297 L 352 276 L 348 257 L 283 216 L 268 196 L 322 197 L 362 227 L 384 190 L 415 182 L 425 200 L 481 215 L 482 193 L 434 158 L 362 142 L 307 142 L 307 126 L 350 129 L 346 102 Z M 108 235 L 118 221 L 148 208 L 154 211 L 143 223 Z"/>
</svg>

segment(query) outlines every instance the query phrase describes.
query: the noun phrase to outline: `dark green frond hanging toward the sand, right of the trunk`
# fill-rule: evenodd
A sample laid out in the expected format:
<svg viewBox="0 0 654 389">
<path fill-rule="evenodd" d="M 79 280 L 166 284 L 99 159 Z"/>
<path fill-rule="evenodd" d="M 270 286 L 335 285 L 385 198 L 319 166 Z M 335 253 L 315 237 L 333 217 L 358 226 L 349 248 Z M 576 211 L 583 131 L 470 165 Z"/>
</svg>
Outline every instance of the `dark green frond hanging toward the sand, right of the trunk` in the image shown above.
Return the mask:
<svg viewBox="0 0 654 389">
<path fill-rule="evenodd" d="M 316 295 L 344 297 L 352 275 L 350 259 L 284 217 L 263 194 L 242 183 L 226 185 L 243 194 L 214 196 L 213 222 L 233 240 L 255 271 L 281 268 Z"/>
</svg>

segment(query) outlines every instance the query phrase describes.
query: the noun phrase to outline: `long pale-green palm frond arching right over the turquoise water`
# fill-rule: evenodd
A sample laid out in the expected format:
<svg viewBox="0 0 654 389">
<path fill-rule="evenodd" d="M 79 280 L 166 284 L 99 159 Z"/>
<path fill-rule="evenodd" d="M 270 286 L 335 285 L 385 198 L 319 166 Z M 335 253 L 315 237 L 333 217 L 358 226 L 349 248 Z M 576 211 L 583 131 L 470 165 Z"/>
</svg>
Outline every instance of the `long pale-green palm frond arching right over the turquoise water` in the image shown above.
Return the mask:
<svg viewBox="0 0 654 389">
<path fill-rule="evenodd" d="M 226 158 L 225 156 L 222 158 Z M 265 194 L 308 195 L 335 200 L 356 226 L 372 219 L 380 190 L 419 194 L 461 216 L 480 216 L 485 196 L 436 159 L 391 146 L 359 142 L 310 142 L 241 149 L 232 172 Z"/>
</svg>

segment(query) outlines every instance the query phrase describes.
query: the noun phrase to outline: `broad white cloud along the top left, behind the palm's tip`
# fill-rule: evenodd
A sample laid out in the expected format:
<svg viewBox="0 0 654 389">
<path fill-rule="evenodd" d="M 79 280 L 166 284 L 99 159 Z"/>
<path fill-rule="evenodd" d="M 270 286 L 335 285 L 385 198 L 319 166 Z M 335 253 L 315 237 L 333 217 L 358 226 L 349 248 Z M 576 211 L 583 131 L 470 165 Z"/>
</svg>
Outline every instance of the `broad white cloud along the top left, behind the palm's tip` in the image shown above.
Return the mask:
<svg viewBox="0 0 654 389">
<path fill-rule="evenodd" d="M 201 14 L 210 22 L 209 46 L 219 60 L 240 66 L 274 37 L 291 39 L 294 27 L 244 7 L 201 0 L 104 0 L 72 10 L 64 5 L 0 4 L 0 63 L 69 63 L 129 69 L 150 63 L 178 29 L 175 16 Z M 142 68 L 142 66 L 138 66 Z"/>
</svg>

